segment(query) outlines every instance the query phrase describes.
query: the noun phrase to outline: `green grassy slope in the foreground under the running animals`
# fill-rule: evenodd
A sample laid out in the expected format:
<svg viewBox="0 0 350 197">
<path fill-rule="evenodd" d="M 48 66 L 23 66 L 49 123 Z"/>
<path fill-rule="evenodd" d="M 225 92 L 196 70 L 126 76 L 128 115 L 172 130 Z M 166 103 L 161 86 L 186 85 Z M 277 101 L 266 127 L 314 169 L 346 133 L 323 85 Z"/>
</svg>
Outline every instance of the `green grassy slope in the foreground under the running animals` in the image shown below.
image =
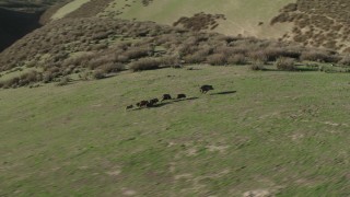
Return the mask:
<svg viewBox="0 0 350 197">
<path fill-rule="evenodd" d="M 195 68 L 1 90 L 0 196 L 350 195 L 348 74 Z"/>
</svg>

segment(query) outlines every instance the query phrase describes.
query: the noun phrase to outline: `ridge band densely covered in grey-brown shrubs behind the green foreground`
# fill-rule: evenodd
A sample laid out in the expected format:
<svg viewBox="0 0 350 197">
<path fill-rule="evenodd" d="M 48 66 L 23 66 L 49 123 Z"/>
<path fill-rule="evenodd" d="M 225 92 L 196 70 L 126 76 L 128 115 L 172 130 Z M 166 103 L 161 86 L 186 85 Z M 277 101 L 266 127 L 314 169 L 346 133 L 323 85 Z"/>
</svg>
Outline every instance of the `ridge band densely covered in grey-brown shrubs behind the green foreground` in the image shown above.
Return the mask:
<svg viewBox="0 0 350 197">
<path fill-rule="evenodd" d="M 296 69 L 294 61 L 305 60 L 348 65 L 335 51 L 291 43 L 198 33 L 154 22 L 63 19 L 36 30 L 0 54 L 0 88 L 57 82 L 74 74 L 81 80 L 103 78 L 125 69 L 190 63 L 262 66 L 280 58 L 291 58 L 291 70 Z M 24 69 L 31 70 L 23 73 Z M 21 76 L 11 74 L 15 71 Z"/>
</svg>

